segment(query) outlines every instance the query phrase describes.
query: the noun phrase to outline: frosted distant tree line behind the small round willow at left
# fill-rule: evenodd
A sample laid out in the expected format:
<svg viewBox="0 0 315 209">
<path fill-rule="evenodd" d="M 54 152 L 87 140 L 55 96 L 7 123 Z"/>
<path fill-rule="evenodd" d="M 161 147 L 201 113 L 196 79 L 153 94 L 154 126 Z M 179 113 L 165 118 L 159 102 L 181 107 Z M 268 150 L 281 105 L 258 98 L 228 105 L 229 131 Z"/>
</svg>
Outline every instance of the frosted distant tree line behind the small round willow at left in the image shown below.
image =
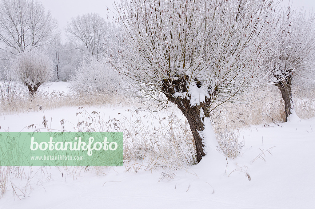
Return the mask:
<svg viewBox="0 0 315 209">
<path fill-rule="evenodd" d="M 96 13 L 73 17 L 66 28 L 67 40 L 61 41 L 60 28 L 50 11 L 43 4 L 34 0 L 0 1 L 0 76 L 3 79 L 18 78 L 16 68 L 21 57 L 38 63 L 50 63 L 46 68 L 50 77 L 47 81 L 69 81 L 83 62 L 106 55 L 108 45 L 116 33 L 112 23 Z M 33 53 L 29 53 L 29 52 Z M 45 54 L 49 61 L 44 61 L 39 54 Z M 47 56 L 46 56 L 47 55 Z M 43 63 L 42 63 L 43 64 Z M 39 66 L 39 65 L 37 65 Z M 29 68 L 27 68 L 29 69 Z M 24 69 L 26 70 L 26 69 Z M 23 71 L 20 69 L 20 71 Z M 24 80 L 29 80 L 32 88 L 37 89 L 38 78 L 32 73 L 22 73 Z M 21 80 L 21 78 L 19 77 Z M 37 84 L 36 84 L 37 83 Z M 33 92 L 34 93 L 34 92 Z M 35 90 L 36 93 L 36 90 Z"/>
</svg>

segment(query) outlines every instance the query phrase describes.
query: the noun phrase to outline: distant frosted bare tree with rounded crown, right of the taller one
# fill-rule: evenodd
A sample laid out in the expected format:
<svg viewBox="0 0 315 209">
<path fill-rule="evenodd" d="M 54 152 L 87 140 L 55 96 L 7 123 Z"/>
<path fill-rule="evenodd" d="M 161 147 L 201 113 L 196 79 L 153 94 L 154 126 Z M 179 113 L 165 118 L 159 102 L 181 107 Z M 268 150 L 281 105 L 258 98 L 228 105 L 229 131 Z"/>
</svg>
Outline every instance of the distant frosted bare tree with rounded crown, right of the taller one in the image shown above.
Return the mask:
<svg viewBox="0 0 315 209">
<path fill-rule="evenodd" d="M 99 58 L 104 53 L 104 44 L 113 36 L 114 26 L 99 14 L 88 13 L 72 18 L 65 30 L 77 48 Z"/>
</svg>

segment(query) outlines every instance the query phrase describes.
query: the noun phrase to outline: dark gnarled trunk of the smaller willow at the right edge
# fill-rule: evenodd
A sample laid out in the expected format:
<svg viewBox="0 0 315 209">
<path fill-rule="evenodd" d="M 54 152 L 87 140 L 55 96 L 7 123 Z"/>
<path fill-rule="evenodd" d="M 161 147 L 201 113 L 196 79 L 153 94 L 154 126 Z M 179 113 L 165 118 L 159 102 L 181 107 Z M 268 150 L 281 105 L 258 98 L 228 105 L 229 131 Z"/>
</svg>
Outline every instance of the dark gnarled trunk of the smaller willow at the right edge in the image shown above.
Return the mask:
<svg viewBox="0 0 315 209">
<path fill-rule="evenodd" d="M 279 88 L 282 99 L 284 100 L 285 122 L 287 122 L 288 117 L 292 114 L 292 110 L 294 110 L 292 99 L 292 76 L 288 76 L 287 79 L 278 82 L 275 85 Z"/>
</svg>

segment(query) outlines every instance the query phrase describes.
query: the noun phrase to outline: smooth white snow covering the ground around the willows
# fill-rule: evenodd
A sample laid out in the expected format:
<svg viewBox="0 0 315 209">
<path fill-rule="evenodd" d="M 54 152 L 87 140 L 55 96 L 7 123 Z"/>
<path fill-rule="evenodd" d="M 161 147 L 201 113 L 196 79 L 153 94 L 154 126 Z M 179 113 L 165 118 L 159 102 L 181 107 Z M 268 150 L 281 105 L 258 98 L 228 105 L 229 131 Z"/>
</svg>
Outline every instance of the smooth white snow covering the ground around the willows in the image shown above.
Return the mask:
<svg viewBox="0 0 315 209">
<path fill-rule="evenodd" d="M 66 91 L 66 85 L 59 82 L 46 88 Z M 87 111 L 103 112 L 109 119 L 119 118 L 118 113 L 128 115 L 128 108 L 89 107 Z M 60 129 L 60 120 L 66 119 L 66 128 L 71 130 L 79 120 L 77 112 L 77 108 L 64 108 L 44 114 L 52 118 L 51 128 Z M 0 116 L 0 126 L 11 132 L 32 131 L 35 127 L 25 127 L 42 121 L 43 112 Z M 161 180 L 161 170 L 135 173 L 126 171 L 125 165 L 77 173 L 69 172 L 71 167 L 68 171 L 32 167 L 29 182 L 11 177 L 0 208 L 314 208 L 315 119 L 293 116 L 283 127 L 270 125 L 242 130 L 242 154 L 229 159 L 227 167 L 209 133 L 208 155 L 198 165 L 177 170 L 171 180 Z"/>
</svg>

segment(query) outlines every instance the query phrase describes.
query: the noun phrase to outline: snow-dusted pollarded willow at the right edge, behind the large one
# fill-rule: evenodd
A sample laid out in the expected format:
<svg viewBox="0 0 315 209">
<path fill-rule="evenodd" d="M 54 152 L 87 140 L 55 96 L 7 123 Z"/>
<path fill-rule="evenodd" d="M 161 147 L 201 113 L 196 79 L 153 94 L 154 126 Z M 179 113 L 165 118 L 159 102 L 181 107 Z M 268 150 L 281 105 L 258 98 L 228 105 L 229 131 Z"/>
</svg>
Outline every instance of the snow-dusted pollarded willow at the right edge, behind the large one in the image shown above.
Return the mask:
<svg viewBox="0 0 315 209">
<path fill-rule="evenodd" d="M 291 11 L 288 7 L 281 14 L 272 50 L 266 60 L 272 70 L 275 85 L 281 92 L 285 106 L 285 121 L 294 112 L 292 98 L 293 79 L 300 85 L 314 79 L 315 71 L 315 15 L 304 10 Z"/>
</svg>

